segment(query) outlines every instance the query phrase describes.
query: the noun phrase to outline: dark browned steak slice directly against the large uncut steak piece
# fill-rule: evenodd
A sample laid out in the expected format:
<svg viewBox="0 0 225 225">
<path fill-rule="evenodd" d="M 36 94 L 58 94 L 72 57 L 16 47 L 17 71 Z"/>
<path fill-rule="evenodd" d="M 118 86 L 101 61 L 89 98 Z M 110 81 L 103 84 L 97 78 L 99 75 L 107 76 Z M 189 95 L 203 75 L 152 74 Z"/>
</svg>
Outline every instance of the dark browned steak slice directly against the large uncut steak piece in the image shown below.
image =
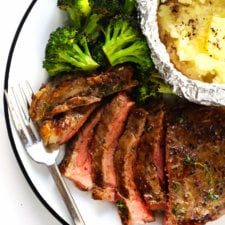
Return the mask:
<svg viewBox="0 0 225 225">
<path fill-rule="evenodd" d="M 164 115 L 152 105 L 141 137 L 135 163 L 135 183 L 149 209 L 165 209 Z"/>
</svg>

